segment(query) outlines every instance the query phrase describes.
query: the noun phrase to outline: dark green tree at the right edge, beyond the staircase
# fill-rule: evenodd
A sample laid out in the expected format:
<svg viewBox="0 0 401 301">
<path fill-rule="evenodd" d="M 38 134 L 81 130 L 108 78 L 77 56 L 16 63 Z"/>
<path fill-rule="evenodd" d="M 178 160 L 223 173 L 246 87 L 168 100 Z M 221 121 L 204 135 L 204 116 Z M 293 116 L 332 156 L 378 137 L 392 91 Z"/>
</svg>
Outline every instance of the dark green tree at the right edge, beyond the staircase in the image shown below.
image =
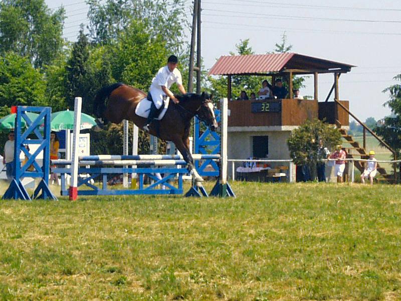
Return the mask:
<svg viewBox="0 0 401 301">
<path fill-rule="evenodd" d="M 394 77 L 401 81 L 401 74 Z M 397 158 L 401 155 L 401 85 L 395 84 L 383 90 L 388 92 L 390 98 L 384 103 L 391 109 L 391 116 L 384 117 L 382 123 L 374 128 L 374 131 L 382 137 L 384 142 L 397 152 Z"/>
</svg>

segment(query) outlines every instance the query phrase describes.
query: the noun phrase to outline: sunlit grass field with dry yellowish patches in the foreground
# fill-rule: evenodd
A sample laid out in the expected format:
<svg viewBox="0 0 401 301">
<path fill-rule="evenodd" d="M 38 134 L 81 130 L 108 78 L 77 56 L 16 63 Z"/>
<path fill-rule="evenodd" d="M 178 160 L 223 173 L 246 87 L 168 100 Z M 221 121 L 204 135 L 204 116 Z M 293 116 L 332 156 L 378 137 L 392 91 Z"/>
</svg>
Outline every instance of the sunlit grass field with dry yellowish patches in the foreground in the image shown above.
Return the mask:
<svg viewBox="0 0 401 301">
<path fill-rule="evenodd" d="M 2 201 L 0 299 L 401 298 L 399 186 Z"/>
</svg>

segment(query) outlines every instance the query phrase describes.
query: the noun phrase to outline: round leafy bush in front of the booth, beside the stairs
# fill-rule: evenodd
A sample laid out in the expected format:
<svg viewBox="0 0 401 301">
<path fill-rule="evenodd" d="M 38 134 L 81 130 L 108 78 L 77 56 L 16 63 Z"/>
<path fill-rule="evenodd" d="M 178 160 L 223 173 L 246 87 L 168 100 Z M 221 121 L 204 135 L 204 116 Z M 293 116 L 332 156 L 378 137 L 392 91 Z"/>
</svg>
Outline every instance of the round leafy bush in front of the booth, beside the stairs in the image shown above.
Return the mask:
<svg viewBox="0 0 401 301">
<path fill-rule="evenodd" d="M 317 151 L 319 140 L 323 145 L 332 148 L 341 141 L 340 132 L 330 124 L 321 120 L 306 120 L 301 126 L 294 129 L 287 140 L 290 156 L 296 165 L 308 165 L 314 170 L 319 161 Z"/>
</svg>

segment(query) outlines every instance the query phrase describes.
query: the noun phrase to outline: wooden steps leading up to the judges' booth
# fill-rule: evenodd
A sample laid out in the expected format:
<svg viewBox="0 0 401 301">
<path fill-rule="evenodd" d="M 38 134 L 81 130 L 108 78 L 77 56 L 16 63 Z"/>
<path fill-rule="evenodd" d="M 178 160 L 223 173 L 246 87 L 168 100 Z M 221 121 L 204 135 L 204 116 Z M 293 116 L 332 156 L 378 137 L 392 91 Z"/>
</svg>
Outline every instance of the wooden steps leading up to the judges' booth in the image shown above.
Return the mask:
<svg viewBox="0 0 401 301">
<path fill-rule="evenodd" d="M 344 142 L 351 144 L 352 147 L 345 147 L 347 152 L 347 158 L 360 158 L 360 159 L 369 159 L 369 154 L 366 152 L 366 149 L 359 145 L 358 141 L 355 141 L 351 135 L 347 133 L 347 131 L 341 128 L 341 124 L 337 122 L 337 128 L 341 133 L 342 138 L 345 140 Z M 354 161 L 354 166 L 363 173 L 364 165 L 363 162 Z M 377 163 L 377 172 L 381 175 L 382 180 L 388 183 L 395 183 L 394 176 L 392 174 L 387 174 L 386 170 Z M 377 178 L 380 181 L 380 177 Z"/>
</svg>

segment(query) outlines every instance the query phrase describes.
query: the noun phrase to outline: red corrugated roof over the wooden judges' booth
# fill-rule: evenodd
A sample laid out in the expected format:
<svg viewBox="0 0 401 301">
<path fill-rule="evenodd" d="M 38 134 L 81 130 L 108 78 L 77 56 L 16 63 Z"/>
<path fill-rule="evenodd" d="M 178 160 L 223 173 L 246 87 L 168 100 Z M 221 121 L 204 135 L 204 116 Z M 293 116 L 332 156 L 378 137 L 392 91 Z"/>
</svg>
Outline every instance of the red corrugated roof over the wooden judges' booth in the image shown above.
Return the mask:
<svg viewBox="0 0 401 301">
<path fill-rule="evenodd" d="M 349 69 L 353 65 L 337 63 L 296 53 L 221 56 L 209 75 L 280 72 L 287 69 Z"/>
</svg>

